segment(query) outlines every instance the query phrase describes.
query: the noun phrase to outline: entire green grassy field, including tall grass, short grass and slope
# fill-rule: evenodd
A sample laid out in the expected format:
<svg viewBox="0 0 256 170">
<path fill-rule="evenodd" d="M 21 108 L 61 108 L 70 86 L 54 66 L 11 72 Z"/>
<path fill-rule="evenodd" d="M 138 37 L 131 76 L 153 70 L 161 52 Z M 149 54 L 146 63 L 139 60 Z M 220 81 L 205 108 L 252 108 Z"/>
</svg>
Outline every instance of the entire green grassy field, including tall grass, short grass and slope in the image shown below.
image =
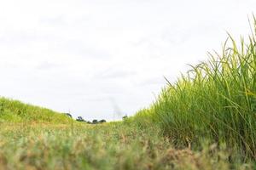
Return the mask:
<svg viewBox="0 0 256 170">
<path fill-rule="evenodd" d="M 229 37 L 120 122 L 89 125 L 0 99 L 0 169 L 256 169 L 253 23 L 249 37 Z"/>
</svg>

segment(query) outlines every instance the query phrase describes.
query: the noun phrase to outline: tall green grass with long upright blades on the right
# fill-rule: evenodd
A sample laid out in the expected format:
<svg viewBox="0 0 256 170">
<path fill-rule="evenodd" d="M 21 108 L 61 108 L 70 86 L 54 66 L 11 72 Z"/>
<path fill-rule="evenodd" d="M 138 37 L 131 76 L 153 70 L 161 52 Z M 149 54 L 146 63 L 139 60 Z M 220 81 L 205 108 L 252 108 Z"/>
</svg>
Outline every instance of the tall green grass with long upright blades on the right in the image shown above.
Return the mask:
<svg viewBox="0 0 256 170">
<path fill-rule="evenodd" d="M 253 23 L 247 42 L 229 36 L 222 54 L 209 54 L 177 82 L 167 81 L 154 105 L 136 117 L 149 116 L 177 146 L 207 139 L 256 158 L 255 18 Z"/>
</svg>

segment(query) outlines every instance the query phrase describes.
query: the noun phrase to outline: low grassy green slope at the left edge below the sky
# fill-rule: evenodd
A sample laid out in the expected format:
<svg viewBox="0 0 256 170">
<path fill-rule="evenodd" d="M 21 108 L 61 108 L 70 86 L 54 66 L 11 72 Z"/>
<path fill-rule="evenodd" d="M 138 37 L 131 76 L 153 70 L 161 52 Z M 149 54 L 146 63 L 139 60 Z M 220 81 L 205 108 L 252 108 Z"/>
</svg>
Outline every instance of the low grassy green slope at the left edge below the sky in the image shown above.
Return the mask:
<svg viewBox="0 0 256 170">
<path fill-rule="evenodd" d="M 0 98 L 0 122 L 68 123 L 68 116 L 18 100 Z"/>
</svg>

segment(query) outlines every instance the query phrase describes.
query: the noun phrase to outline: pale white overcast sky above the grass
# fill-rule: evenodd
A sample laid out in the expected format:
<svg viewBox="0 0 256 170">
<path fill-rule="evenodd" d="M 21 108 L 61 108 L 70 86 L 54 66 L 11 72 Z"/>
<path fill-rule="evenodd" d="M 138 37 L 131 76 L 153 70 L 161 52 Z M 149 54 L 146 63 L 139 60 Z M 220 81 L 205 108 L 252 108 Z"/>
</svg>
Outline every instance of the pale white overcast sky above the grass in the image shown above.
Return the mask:
<svg viewBox="0 0 256 170">
<path fill-rule="evenodd" d="M 255 0 L 0 1 L 0 95 L 116 120 L 250 32 Z"/>
</svg>

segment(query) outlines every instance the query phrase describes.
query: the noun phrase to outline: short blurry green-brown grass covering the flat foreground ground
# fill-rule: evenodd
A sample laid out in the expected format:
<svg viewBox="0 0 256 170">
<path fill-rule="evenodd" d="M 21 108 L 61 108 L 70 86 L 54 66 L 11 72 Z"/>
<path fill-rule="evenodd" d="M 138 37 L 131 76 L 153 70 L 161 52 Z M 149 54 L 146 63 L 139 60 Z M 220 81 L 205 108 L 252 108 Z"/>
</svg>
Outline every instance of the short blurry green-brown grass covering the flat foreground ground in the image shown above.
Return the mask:
<svg viewBox="0 0 256 170">
<path fill-rule="evenodd" d="M 0 169 L 253 169 L 230 164 L 228 152 L 214 145 L 200 152 L 175 150 L 159 129 L 125 122 L 2 123 L 0 141 Z"/>
</svg>

